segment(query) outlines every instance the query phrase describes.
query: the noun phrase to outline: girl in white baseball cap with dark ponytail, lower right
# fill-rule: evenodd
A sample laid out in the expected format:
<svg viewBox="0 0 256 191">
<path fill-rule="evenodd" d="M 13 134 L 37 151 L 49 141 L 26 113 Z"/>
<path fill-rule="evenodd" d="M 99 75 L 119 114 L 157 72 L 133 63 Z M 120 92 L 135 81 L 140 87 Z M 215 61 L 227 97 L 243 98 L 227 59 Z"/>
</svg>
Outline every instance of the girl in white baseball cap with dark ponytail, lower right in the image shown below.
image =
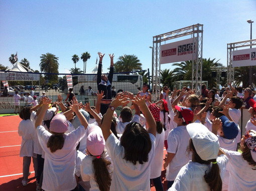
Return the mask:
<svg viewBox="0 0 256 191">
<path fill-rule="evenodd" d="M 214 122 L 221 124 L 219 120 Z M 224 154 L 218 156 L 221 150 L 217 136 L 200 123 L 191 123 L 186 127 L 190 135 L 188 151 L 192 152 L 192 161 L 181 168 L 168 191 L 221 191 L 221 176 L 224 175 L 228 159 Z"/>
</svg>

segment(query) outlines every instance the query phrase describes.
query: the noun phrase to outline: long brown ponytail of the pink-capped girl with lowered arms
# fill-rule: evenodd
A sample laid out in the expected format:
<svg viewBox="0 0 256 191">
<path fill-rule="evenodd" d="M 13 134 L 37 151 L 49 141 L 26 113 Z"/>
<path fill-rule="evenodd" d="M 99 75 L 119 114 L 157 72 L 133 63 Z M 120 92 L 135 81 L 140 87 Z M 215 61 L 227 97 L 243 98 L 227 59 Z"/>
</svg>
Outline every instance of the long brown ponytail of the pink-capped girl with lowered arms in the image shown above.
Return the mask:
<svg viewBox="0 0 256 191">
<path fill-rule="evenodd" d="M 94 178 L 99 187 L 100 191 L 108 191 L 111 184 L 111 177 L 108 172 L 108 165 L 111 162 L 104 159 L 102 156 L 92 160 L 92 165 L 94 169 Z"/>
</svg>

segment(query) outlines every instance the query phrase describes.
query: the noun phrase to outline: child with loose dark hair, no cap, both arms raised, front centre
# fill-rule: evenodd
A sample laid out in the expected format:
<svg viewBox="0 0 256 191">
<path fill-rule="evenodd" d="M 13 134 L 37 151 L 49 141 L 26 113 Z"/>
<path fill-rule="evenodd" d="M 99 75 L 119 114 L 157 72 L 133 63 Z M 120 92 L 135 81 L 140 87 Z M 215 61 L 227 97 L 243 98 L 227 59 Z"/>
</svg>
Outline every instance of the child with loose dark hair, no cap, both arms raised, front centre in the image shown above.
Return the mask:
<svg viewBox="0 0 256 191">
<path fill-rule="evenodd" d="M 119 105 L 129 103 L 126 97 L 114 99 L 101 125 L 107 151 L 114 164 L 110 190 L 150 190 L 150 165 L 156 140 L 156 121 L 146 105 L 145 97 L 132 101 L 140 106 L 149 124 L 148 132 L 139 123 L 129 123 L 119 141 L 110 130 L 113 111 Z"/>
</svg>

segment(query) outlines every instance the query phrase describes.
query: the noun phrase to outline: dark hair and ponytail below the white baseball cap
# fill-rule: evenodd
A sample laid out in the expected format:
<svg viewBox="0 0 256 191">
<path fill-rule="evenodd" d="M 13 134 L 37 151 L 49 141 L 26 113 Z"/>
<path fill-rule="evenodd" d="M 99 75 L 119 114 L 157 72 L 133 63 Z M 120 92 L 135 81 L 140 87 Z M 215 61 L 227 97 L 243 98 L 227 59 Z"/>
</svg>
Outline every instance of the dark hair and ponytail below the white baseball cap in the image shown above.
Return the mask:
<svg viewBox="0 0 256 191">
<path fill-rule="evenodd" d="M 212 163 L 210 171 L 209 172 L 205 171 L 204 179 L 206 183 L 208 183 L 208 185 L 210 186 L 211 191 L 221 191 L 222 180 L 220 177 L 220 170 L 219 170 L 218 163 L 216 162 L 216 159 L 203 160 L 197 154 L 194 144 L 192 142 L 192 139 L 190 138 L 187 151 L 191 151 L 191 150 L 193 150 L 192 158 L 195 162 L 198 162 L 200 164 L 210 164 L 211 162 L 214 162 Z"/>
</svg>

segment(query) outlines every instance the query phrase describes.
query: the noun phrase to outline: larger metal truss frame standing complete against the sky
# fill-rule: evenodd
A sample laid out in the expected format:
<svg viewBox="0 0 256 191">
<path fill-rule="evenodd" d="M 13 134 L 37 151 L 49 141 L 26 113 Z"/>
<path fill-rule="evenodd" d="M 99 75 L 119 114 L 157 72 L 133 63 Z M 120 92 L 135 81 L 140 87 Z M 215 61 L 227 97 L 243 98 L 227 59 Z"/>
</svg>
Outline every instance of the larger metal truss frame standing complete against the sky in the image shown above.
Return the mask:
<svg viewBox="0 0 256 191">
<path fill-rule="evenodd" d="M 203 25 L 196 24 L 169 33 L 164 33 L 153 37 L 153 50 L 152 50 L 152 87 L 153 87 L 153 100 L 157 100 L 160 97 L 160 55 L 161 55 L 161 43 L 192 35 L 193 44 L 196 44 L 196 51 L 192 56 L 192 80 L 191 87 L 195 89 L 197 94 L 201 94 L 201 76 L 202 76 L 202 58 L 203 58 Z"/>
</svg>

